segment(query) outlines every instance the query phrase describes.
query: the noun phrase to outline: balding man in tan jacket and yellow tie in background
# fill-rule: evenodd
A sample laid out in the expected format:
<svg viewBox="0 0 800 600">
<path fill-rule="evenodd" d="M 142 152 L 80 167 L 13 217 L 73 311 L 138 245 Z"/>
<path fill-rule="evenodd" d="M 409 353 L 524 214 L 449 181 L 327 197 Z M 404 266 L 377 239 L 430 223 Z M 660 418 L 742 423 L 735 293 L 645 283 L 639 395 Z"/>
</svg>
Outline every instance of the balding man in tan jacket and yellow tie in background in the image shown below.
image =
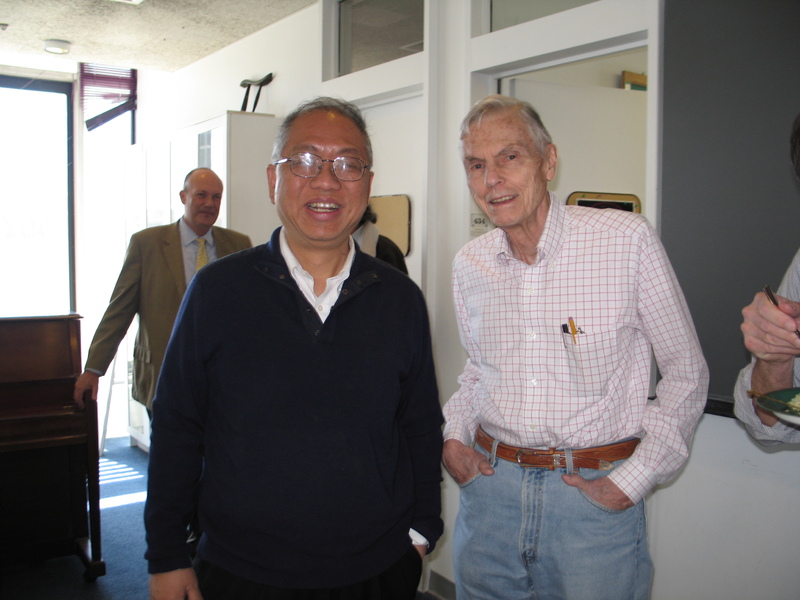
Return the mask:
<svg viewBox="0 0 800 600">
<path fill-rule="evenodd" d="M 222 189 L 222 181 L 211 169 L 190 171 L 180 192 L 183 217 L 177 223 L 131 236 L 111 302 L 89 347 L 85 370 L 75 382 L 74 399 L 79 405 L 87 390 L 97 398 L 99 379 L 138 314 L 132 393 L 150 410 L 172 325 L 197 265 L 252 246 L 246 235 L 213 227 Z"/>
</svg>

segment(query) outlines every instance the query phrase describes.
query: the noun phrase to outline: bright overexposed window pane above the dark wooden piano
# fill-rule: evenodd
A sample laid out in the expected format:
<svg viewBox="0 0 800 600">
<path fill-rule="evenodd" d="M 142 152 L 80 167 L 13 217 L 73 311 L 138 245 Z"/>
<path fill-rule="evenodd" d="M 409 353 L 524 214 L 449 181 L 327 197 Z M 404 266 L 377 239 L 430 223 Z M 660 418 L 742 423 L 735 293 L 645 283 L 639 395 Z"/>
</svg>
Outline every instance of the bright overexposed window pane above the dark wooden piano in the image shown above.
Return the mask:
<svg viewBox="0 0 800 600">
<path fill-rule="evenodd" d="M 0 316 L 70 312 L 69 96 L 0 87 Z"/>
</svg>

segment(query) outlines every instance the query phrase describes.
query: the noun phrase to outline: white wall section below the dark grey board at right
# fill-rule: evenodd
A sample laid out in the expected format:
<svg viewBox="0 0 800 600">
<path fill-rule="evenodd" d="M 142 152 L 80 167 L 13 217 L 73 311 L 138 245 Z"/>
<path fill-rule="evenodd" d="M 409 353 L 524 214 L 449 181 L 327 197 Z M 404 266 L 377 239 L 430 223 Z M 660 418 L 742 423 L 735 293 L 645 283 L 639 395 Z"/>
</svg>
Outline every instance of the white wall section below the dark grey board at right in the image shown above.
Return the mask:
<svg viewBox="0 0 800 600">
<path fill-rule="evenodd" d="M 800 597 L 799 449 L 703 416 L 683 473 L 648 500 L 653 600 Z"/>
</svg>

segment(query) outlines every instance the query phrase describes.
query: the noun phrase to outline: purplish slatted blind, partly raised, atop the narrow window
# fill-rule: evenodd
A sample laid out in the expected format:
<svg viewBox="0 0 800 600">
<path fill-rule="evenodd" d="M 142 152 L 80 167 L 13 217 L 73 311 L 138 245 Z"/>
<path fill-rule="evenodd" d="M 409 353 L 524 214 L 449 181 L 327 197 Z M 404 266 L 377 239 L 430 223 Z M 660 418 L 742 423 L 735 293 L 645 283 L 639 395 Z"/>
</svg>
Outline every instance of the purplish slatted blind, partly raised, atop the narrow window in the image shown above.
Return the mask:
<svg viewBox="0 0 800 600">
<path fill-rule="evenodd" d="M 81 63 L 81 102 L 89 131 L 136 109 L 136 69 Z"/>
</svg>

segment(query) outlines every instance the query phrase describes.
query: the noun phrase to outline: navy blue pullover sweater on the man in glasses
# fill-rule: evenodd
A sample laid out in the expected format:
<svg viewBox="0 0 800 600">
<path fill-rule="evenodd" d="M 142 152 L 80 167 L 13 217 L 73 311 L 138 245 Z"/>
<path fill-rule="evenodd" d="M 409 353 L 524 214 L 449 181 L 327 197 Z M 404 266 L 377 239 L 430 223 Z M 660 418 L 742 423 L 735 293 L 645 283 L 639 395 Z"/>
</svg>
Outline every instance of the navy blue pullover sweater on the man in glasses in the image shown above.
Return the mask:
<svg viewBox="0 0 800 600">
<path fill-rule="evenodd" d="M 442 415 L 425 301 L 356 252 L 323 323 L 287 270 L 278 230 L 187 290 L 153 404 L 145 507 L 151 573 L 199 554 L 246 579 L 337 587 L 431 549 Z"/>
</svg>

